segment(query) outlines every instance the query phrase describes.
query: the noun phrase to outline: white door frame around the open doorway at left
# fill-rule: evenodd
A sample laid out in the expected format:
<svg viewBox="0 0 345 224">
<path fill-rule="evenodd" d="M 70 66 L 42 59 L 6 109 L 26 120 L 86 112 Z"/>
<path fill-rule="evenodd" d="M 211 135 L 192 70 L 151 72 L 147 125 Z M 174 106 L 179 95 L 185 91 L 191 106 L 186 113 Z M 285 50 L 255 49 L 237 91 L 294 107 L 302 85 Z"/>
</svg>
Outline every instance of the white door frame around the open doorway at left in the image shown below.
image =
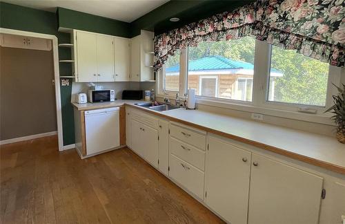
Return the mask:
<svg viewBox="0 0 345 224">
<path fill-rule="evenodd" d="M 37 37 L 52 40 L 52 55 L 54 60 L 54 77 L 55 77 L 55 102 L 57 107 L 57 138 L 59 142 L 59 151 L 63 151 L 63 133 L 62 133 L 62 115 L 61 115 L 61 93 L 60 93 L 60 73 L 59 73 L 59 53 L 58 42 L 55 35 L 47 35 L 39 32 L 28 32 L 22 30 L 12 30 L 0 28 L 0 33 L 8 35 L 21 35 L 26 37 Z"/>
</svg>

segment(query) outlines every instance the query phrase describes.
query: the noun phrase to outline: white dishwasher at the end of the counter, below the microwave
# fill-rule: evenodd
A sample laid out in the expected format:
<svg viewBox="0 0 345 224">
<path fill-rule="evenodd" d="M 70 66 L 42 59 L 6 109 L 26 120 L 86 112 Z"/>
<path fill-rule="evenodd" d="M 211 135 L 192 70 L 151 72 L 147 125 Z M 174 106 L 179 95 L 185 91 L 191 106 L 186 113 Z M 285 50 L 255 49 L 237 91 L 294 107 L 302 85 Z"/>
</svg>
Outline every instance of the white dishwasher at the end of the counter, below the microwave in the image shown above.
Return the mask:
<svg viewBox="0 0 345 224">
<path fill-rule="evenodd" d="M 119 147 L 119 107 L 85 111 L 86 154 Z"/>
</svg>

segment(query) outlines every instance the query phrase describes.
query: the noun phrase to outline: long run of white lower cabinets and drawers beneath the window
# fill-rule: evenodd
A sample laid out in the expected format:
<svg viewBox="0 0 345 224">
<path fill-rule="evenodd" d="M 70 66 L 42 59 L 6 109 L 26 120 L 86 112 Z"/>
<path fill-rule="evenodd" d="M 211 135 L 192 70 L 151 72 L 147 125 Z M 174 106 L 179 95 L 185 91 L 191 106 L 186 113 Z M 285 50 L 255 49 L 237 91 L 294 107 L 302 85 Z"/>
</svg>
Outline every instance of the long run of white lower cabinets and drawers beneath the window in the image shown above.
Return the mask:
<svg viewBox="0 0 345 224">
<path fill-rule="evenodd" d="M 255 147 L 136 109 L 128 131 L 132 150 L 228 223 L 317 224 L 320 217 L 320 224 L 328 224 L 345 212 L 345 200 L 337 199 L 344 194 L 343 180 L 331 185 L 329 176 Z"/>
</svg>

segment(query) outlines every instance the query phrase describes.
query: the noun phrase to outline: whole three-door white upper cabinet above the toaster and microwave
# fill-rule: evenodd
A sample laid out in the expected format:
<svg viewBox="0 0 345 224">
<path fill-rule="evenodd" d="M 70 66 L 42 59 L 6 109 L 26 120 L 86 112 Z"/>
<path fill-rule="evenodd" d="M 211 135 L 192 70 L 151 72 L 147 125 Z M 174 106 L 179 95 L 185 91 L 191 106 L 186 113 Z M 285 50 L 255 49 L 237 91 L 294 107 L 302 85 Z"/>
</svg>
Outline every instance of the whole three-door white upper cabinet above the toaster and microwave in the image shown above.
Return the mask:
<svg viewBox="0 0 345 224">
<path fill-rule="evenodd" d="M 79 30 L 73 34 L 76 82 L 129 81 L 130 39 Z"/>
</svg>

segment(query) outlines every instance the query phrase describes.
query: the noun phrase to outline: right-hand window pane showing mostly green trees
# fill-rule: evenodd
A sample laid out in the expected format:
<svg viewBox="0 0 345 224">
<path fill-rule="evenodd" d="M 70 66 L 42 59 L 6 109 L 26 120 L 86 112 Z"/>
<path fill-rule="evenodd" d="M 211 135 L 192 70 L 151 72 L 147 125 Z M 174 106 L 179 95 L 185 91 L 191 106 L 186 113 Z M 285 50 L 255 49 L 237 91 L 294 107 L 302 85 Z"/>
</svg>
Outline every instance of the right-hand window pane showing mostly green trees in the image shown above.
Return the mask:
<svg viewBox="0 0 345 224">
<path fill-rule="evenodd" d="M 268 101 L 326 106 L 328 64 L 272 46 Z"/>
</svg>

